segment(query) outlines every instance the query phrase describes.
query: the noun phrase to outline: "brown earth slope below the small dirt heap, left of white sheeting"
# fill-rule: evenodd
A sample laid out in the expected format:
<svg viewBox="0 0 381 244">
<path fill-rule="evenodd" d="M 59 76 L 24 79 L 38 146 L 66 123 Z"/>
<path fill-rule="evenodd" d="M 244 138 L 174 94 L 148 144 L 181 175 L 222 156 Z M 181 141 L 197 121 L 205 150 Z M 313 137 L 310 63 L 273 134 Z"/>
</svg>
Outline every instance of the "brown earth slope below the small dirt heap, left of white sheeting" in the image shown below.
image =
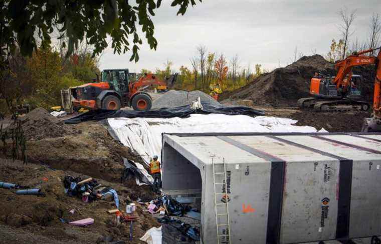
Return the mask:
<svg viewBox="0 0 381 244">
<path fill-rule="evenodd" d="M 83 122 L 73 127 L 82 133 L 27 141 L 28 161 L 114 182 L 120 180 L 124 170 L 122 157 L 142 162 L 101 124 Z"/>
</svg>

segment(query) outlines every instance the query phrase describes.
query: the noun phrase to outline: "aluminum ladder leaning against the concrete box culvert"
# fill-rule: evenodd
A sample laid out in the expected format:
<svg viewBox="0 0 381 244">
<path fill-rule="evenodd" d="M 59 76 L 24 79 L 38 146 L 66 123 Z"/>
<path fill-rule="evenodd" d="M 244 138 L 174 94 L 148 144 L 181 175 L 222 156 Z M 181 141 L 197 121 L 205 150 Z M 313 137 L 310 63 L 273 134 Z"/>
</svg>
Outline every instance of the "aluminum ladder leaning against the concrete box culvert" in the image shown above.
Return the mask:
<svg viewBox="0 0 381 244">
<path fill-rule="evenodd" d="M 224 168 L 224 172 L 216 172 L 215 165 L 222 165 Z M 213 190 L 214 190 L 214 197 L 215 197 L 215 211 L 216 211 L 216 228 L 217 228 L 217 244 L 220 243 L 229 243 L 231 244 L 231 238 L 230 238 L 230 221 L 229 221 L 229 205 L 228 205 L 228 181 L 226 177 L 226 164 L 225 164 L 225 158 L 223 159 L 223 163 L 215 164 L 214 160 L 212 158 L 212 167 L 213 167 Z M 223 175 L 224 181 L 222 182 L 216 182 L 216 175 Z M 216 192 L 216 186 L 225 184 L 225 192 Z M 222 197 L 225 196 L 225 202 L 224 203 L 218 203 L 217 202 L 217 196 L 222 195 Z M 225 205 L 225 211 L 219 212 L 218 206 L 219 205 Z M 219 223 L 219 218 L 225 217 L 226 223 Z M 220 234 L 219 227 L 220 226 L 226 226 L 226 233 Z M 225 238 L 224 238 L 225 237 Z M 225 239 L 220 241 L 220 238 Z"/>
</svg>

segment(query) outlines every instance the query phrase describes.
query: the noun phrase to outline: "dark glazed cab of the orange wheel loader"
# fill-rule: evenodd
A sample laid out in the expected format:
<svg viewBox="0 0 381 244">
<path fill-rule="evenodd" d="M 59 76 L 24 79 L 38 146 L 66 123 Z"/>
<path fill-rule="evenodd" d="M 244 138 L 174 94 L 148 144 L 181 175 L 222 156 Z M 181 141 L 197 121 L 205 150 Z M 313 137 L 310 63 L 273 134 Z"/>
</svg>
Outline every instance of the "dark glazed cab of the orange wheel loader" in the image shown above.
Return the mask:
<svg viewBox="0 0 381 244">
<path fill-rule="evenodd" d="M 103 70 L 102 82 L 111 84 L 113 90 L 123 94 L 128 92 L 129 75 L 128 69 Z"/>
</svg>

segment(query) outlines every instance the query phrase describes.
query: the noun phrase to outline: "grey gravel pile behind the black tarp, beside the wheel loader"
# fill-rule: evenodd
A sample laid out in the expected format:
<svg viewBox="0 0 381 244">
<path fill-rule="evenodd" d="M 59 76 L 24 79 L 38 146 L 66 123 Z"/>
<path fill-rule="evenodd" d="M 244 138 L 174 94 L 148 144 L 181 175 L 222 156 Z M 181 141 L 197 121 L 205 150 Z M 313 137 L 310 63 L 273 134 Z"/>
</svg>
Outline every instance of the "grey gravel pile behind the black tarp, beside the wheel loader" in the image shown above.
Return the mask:
<svg viewBox="0 0 381 244">
<path fill-rule="evenodd" d="M 196 101 L 198 97 L 200 97 L 201 102 L 210 103 L 214 106 L 221 106 L 219 102 L 201 91 L 186 92 L 170 90 L 153 102 L 152 109 L 173 108 L 189 105 L 192 104 L 193 101 Z"/>
</svg>

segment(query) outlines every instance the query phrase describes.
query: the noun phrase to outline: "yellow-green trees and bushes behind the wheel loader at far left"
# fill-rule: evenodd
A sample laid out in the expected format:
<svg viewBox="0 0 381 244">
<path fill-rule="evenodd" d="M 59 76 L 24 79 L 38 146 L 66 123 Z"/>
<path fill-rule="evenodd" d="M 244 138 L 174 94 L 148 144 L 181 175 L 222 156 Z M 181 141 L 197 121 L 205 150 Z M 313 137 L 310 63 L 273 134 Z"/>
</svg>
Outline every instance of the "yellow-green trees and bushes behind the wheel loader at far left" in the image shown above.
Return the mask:
<svg viewBox="0 0 381 244">
<path fill-rule="evenodd" d="M 61 89 L 91 82 L 100 73 L 91 48 L 80 45 L 69 57 L 62 50 L 60 45 L 40 45 L 25 57 L 17 49 L 9 58 L 11 74 L 3 92 L 22 100 L 20 104 L 48 109 L 61 105 Z M 0 112 L 7 111 L 5 102 L 0 100 Z"/>
</svg>

